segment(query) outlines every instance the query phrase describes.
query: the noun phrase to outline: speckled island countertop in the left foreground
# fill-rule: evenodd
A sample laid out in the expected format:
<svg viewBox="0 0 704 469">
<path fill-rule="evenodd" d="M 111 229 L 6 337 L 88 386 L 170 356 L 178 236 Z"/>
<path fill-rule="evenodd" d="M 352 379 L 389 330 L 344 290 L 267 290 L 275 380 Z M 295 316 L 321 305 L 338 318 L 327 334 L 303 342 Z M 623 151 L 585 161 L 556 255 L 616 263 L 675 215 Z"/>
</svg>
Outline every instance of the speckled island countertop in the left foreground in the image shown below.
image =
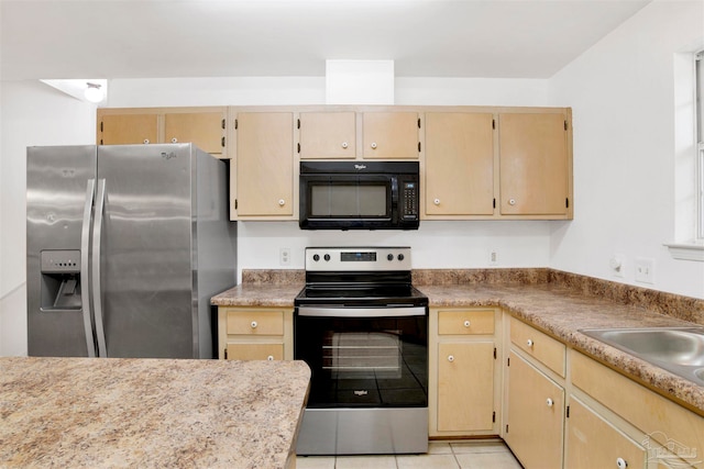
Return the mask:
<svg viewBox="0 0 704 469">
<path fill-rule="evenodd" d="M 302 361 L 0 358 L 0 467 L 288 468 Z"/>
</svg>

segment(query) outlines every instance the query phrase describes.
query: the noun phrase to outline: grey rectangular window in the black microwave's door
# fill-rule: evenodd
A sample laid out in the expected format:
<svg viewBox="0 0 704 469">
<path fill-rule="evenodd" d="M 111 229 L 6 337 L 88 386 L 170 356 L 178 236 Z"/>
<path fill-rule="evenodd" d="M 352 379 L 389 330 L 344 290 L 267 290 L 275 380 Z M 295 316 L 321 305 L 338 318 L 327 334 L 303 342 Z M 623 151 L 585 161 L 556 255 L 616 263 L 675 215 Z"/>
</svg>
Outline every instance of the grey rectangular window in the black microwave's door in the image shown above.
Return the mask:
<svg viewBox="0 0 704 469">
<path fill-rule="evenodd" d="M 312 216 L 387 216 L 386 185 L 311 185 Z"/>
</svg>

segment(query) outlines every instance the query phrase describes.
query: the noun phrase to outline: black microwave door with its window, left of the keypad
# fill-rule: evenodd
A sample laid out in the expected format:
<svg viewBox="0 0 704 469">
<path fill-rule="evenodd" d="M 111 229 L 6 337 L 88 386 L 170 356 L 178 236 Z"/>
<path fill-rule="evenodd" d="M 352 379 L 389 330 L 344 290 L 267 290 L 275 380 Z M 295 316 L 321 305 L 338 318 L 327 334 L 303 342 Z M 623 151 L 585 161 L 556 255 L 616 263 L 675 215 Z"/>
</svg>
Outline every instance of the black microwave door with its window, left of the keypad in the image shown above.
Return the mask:
<svg viewBox="0 0 704 469">
<path fill-rule="evenodd" d="M 301 175 L 304 230 L 391 228 L 397 224 L 393 175 Z"/>
</svg>

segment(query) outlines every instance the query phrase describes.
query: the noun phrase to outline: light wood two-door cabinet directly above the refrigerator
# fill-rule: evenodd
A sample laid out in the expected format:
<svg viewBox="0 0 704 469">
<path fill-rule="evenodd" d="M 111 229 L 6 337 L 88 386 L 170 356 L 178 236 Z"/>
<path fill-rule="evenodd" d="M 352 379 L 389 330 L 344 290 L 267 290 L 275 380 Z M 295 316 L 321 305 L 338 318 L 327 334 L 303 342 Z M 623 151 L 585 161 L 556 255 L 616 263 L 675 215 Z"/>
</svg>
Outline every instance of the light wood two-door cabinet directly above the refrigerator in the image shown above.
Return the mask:
<svg viewBox="0 0 704 469">
<path fill-rule="evenodd" d="M 219 158 L 226 152 L 227 108 L 103 108 L 98 110 L 100 145 L 193 143 Z"/>
</svg>

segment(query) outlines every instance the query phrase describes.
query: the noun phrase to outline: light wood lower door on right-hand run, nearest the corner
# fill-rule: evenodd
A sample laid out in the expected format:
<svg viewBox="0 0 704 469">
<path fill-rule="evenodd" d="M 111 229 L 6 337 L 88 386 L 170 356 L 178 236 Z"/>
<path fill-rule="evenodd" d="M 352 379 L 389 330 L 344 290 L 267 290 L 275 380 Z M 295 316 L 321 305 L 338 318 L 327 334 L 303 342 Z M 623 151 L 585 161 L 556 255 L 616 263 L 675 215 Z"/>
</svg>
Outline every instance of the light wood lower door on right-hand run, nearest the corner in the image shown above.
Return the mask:
<svg viewBox="0 0 704 469">
<path fill-rule="evenodd" d="M 564 390 L 509 354 L 506 443 L 526 469 L 562 467 Z"/>
</svg>

